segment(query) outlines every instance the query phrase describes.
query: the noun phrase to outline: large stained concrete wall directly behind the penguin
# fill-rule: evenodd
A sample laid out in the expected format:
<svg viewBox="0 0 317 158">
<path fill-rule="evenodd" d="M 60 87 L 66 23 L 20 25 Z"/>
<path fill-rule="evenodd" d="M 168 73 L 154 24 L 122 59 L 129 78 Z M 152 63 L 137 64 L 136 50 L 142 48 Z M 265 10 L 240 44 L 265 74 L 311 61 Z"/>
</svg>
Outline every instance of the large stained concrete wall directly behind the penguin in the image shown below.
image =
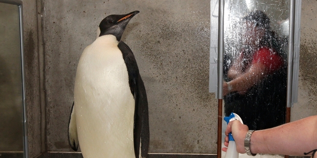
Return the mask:
<svg viewBox="0 0 317 158">
<path fill-rule="evenodd" d="M 43 1 L 48 151 L 72 151 L 67 123 L 76 67 L 110 14 L 140 13 L 122 40 L 149 101 L 149 152 L 216 153 L 217 100 L 208 92 L 210 1 Z M 215 37 L 216 38 L 216 37 Z"/>
</svg>

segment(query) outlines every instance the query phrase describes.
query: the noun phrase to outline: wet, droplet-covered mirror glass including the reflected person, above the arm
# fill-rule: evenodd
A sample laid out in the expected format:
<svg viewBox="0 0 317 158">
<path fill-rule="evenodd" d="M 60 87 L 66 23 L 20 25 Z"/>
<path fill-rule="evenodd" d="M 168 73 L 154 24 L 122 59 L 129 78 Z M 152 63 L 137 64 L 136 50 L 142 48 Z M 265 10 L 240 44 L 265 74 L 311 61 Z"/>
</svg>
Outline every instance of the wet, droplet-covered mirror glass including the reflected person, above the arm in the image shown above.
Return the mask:
<svg viewBox="0 0 317 158">
<path fill-rule="evenodd" d="M 250 129 L 285 123 L 288 35 L 279 25 L 287 19 L 285 6 L 285 1 L 225 4 L 224 114 L 237 113 Z"/>
</svg>

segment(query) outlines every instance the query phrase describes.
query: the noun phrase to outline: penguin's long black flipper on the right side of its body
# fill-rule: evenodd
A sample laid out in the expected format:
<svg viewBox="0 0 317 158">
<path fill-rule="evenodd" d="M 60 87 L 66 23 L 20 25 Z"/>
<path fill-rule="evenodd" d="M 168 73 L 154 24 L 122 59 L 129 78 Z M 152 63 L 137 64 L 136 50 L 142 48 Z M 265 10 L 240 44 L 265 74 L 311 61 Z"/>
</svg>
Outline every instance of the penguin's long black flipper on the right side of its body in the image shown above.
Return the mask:
<svg viewBox="0 0 317 158">
<path fill-rule="evenodd" d="M 123 41 L 119 42 L 118 47 L 121 50 L 124 62 L 127 65 L 127 70 L 129 74 L 129 86 L 135 100 L 133 127 L 135 157 L 139 157 L 140 155 L 140 145 L 141 157 L 148 157 L 149 116 L 146 90 L 141 75 L 139 73 L 138 64 L 134 58 L 133 52 Z"/>
</svg>

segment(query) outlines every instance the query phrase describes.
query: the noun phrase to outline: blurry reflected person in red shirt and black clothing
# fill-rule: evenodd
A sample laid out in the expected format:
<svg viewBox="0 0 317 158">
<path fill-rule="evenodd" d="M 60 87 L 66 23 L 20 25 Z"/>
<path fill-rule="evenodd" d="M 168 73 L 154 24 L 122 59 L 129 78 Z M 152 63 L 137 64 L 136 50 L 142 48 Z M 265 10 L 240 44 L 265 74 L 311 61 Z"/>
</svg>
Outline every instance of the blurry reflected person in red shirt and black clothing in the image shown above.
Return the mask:
<svg viewBox="0 0 317 158">
<path fill-rule="evenodd" d="M 224 113 L 238 114 L 250 129 L 278 126 L 286 114 L 285 51 L 262 11 L 251 12 L 242 23 L 244 45 L 223 82 Z"/>
</svg>

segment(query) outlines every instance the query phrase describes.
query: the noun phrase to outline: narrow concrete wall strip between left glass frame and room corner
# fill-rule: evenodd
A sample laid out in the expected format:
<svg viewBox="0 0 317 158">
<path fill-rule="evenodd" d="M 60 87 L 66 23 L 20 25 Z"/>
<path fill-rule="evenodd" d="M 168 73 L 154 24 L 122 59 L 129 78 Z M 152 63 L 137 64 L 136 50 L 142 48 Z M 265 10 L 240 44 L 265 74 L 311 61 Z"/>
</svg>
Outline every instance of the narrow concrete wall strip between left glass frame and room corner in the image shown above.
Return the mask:
<svg viewBox="0 0 317 158">
<path fill-rule="evenodd" d="M 29 156 L 41 153 L 41 107 L 39 89 L 39 44 L 36 0 L 23 1 L 24 50 L 26 69 L 26 104 Z"/>
</svg>

